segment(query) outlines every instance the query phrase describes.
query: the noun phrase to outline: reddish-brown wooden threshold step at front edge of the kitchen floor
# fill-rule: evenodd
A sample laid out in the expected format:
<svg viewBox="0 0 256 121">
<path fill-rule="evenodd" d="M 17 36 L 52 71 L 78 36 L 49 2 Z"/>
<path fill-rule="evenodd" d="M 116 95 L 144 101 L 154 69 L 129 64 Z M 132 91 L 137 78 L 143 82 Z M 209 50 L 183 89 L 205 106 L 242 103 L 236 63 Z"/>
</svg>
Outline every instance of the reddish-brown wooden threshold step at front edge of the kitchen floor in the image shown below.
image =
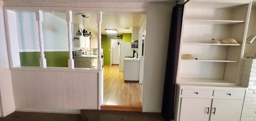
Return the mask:
<svg viewBox="0 0 256 121">
<path fill-rule="evenodd" d="M 126 106 L 126 105 L 102 105 L 101 110 L 112 110 L 112 111 L 134 111 L 142 112 L 141 106 Z"/>
</svg>

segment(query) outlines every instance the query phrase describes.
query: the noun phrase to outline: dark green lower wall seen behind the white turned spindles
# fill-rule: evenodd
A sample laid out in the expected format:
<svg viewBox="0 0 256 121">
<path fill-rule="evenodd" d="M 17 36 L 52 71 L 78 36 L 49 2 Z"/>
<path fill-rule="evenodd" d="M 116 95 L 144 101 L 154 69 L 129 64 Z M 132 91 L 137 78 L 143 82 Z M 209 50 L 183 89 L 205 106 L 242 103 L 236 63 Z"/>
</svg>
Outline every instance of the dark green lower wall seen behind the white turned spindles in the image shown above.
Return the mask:
<svg viewBox="0 0 256 121">
<path fill-rule="evenodd" d="M 68 52 L 44 52 L 47 67 L 68 67 Z M 40 52 L 20 52 L 21 66 L 40 66 Z"/>
</svg>

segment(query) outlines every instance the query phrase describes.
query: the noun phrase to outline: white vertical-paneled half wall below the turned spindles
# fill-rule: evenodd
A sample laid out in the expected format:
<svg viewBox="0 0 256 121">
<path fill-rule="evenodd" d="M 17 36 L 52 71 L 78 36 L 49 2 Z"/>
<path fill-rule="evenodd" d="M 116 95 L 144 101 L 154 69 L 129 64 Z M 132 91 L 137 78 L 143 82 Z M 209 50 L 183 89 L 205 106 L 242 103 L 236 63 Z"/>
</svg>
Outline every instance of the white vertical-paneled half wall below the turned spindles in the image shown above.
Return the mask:
<svg viewBox="0 0 256 121">
<path fill-rule="evenodd" d="M 11 72 L 16 111 L 80 113 L 80 109 L 98 109 L 98 73 Z"/>
</svg>

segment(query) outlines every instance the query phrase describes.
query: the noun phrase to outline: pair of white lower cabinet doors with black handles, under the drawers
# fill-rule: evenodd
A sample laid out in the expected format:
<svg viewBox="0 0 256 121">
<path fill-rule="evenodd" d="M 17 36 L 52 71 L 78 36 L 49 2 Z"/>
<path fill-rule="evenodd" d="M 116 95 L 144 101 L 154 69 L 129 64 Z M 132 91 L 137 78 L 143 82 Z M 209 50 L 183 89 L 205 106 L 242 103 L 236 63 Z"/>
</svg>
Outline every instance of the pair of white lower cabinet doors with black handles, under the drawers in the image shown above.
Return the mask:
<svg viewBox="0 0 256 121">
<path fill-rule="evenodd" d="M 235 99 L 184 97 L 180 121 L 240 121 L 242 105 L 242 100 Z"/>
</svg>

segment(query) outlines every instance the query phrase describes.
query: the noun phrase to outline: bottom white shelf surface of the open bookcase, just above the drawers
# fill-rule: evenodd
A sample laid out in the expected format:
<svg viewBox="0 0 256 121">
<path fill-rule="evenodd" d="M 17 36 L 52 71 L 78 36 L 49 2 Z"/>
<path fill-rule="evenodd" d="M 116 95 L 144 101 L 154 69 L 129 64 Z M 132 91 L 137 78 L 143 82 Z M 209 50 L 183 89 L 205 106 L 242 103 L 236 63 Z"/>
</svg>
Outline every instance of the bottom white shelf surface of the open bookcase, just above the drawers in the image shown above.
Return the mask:
<svg viewBox="0 0 256 121">
<path fill-rule="evenodd" d="M 179 78 L 178 83 L 236 85 L 236 83 L 233 83 L 224 79 L 199 79 L 199 78 Z"/>
</svg>

